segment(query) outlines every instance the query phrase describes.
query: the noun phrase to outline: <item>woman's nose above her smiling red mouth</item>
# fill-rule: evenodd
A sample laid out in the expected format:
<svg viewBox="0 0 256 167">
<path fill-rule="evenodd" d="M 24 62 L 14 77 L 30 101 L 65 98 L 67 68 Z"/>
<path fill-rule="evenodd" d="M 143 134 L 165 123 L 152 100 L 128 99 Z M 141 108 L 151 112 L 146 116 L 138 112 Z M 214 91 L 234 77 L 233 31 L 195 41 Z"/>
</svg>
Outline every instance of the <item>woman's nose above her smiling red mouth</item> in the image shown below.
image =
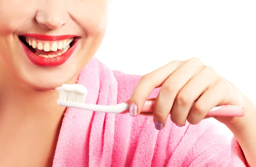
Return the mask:
<svg viewBox="0 0 256 167">
<path fill-rule="evenodd" d="M 58 29 L 66 24 L 69 18 L 70 15 L 65 10 L 65 6 L 61 3 L 61 0 L 46 0 L 43 8 L 38 10 L 35 16 L 35 20 L 41 26 L 46 26 L 49 29 Z"/>
</svg>

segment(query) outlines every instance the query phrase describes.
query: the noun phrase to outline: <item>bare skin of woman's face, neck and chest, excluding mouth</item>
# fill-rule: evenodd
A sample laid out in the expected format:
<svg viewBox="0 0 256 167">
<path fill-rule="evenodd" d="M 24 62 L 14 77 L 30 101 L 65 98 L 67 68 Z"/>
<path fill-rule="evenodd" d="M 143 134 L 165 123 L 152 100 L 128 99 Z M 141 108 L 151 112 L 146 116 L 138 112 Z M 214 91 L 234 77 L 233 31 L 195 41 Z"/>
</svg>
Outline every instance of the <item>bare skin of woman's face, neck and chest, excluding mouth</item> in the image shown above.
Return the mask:
<svg viewBox="0 0 256 167">
<path fill-rule="evenodd" d="M 76 83 L 105 34 L 108 0 L 0 0 L 0 166 L 51 167 L 65 107 L 55 87 Z M 70 59 L 35 66 L 18 36 L 79 35 Z M 72 68 L 70 68 L 72 67 Z"/>
</svg>

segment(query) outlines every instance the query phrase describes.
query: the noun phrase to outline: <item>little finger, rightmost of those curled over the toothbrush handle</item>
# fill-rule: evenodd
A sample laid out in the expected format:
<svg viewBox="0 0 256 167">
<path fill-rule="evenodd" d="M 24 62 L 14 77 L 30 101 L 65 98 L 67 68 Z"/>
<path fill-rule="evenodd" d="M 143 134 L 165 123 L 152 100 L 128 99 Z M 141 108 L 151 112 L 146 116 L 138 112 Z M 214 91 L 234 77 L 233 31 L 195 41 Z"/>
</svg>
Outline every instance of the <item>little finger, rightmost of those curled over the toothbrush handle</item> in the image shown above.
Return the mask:
<svg viewBox="0 0 256 167">
<path fill-rule="evenodd" d="M 198 124 L 207 113 L 219 104 L 224 104 L 228 94 L 227 85 L 223 80 L 207 89 L 190 109 L 187 120 L 190 124 Z"/>
</svg>

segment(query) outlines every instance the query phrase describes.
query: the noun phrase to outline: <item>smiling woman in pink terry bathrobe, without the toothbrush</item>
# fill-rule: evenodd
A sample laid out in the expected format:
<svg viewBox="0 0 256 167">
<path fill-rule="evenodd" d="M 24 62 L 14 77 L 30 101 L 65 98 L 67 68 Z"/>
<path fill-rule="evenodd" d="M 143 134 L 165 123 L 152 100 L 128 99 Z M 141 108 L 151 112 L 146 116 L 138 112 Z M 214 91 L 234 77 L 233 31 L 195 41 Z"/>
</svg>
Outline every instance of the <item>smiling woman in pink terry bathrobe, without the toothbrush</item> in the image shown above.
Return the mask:
<svg viewBox="0 0 256 167">
<path fill-rule="evenodd" d="M 253 167 L 255 106 L 212 68 L 192 58 L 141 78 L 93 58 L 109 3 L 0 0 L 0 166 Z M 60 107 L 54 89 L 63 83 L 86 86 L 86 103 L 131 98 L 132 117 Z M 148 95 L 153 117 L 139 115 Z M 231 144 L 201 122 L 222 104 L 244 107 L 241 118 L 215 117 L 233 132 Z"/>
</svg>

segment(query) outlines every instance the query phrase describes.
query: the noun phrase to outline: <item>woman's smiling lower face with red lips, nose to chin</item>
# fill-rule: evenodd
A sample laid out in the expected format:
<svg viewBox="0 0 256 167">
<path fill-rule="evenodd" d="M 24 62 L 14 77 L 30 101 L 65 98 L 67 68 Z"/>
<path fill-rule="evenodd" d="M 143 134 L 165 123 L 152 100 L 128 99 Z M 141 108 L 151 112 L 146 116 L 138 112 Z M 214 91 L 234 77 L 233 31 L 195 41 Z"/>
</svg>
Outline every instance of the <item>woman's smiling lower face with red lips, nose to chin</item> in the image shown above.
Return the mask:
<svg viewBox="0 0 256 167">
<path fill-rule="evenodd" d="M 99 48 L 109 0 L 0 0 L 0 60 L 36 89 L 68 83 Z"/>
</svg>

